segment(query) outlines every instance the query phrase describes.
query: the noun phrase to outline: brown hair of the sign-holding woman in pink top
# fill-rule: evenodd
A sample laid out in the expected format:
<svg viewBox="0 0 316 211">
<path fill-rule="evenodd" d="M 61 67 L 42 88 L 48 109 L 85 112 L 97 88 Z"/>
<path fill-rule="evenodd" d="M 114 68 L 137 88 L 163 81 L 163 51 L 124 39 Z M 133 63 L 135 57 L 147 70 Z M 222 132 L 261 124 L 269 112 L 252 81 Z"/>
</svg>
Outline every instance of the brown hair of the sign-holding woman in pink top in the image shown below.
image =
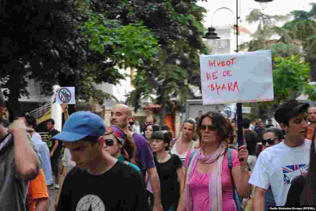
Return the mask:
<svg viewBox="0 0 316 211">
<path fill-rule="evenodd" d="M 231 140 L 233 136 L 233 127 L 231 126 L 230 122 L 222 116 L 222 114 L 213 111 L 209 111 L 206 114 L 203 114 L 197 121 L 197 135 L 199 137 L 199 146 L 202 146 L 202 121 L 206 117 L 212 119 L 212 125 L 217 128 L 218 139 L 220 140 L 220 142 L 224 143 L 225 146 L 227 146 L 227 142 L 229 142 L 229 140 Z"/>
</svg>

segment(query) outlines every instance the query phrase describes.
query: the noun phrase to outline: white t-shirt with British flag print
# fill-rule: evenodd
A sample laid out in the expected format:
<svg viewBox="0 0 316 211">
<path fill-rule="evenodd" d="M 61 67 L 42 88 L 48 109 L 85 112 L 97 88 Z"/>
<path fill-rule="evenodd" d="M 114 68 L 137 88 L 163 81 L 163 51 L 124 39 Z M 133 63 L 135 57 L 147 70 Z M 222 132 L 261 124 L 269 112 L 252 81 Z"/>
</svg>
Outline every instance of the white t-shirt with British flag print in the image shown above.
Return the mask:
<svg viewBox="0 0 316 211">
<path fill-rule="evenodd" d="M 276 206 L 284 206 L 293 179 L 307 173 L 311 141 L 300 147 L 284 142 L 264 149 L 256 162 L 249 183 L 268 190 L 271 186 Z"/>
</svg>

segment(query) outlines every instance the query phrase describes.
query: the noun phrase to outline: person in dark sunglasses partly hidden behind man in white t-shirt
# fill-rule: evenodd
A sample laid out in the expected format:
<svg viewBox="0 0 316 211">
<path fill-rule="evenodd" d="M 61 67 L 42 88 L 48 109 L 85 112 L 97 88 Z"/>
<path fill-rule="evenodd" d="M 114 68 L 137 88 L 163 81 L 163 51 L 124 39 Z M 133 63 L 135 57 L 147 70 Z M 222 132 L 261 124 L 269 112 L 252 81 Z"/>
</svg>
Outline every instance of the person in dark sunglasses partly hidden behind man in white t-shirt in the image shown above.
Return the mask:
<svg viewBox="0 0 316 211">
<path fill-rule="evenodd" d="M 263 139 L 261 141 L 262 150 L 281 143 L 284 138 L 285 137 L 281 129 L 276 127 L 269 127 L 265 129 L 263 133 Z M 268 188 L 264 196 L 264 211 L 269 210 L 269 206 L 276 206 L 271 187 Z"/>
</svg>

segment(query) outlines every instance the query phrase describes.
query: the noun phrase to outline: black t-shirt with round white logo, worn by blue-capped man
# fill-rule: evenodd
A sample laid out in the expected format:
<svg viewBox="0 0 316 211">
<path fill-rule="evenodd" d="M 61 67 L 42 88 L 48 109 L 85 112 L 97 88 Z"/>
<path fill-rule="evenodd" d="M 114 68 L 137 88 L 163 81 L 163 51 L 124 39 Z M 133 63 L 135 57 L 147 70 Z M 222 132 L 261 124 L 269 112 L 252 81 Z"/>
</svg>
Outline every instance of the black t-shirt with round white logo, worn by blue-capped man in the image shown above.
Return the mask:
<svg viewBox="0 0 316 211">
<path fill-rule="evenodd" d="M 58 211 L 149 211 L 142 175 L 123 162 L 95 176 L 73 168 L 60 193 Z"/>
</svg>

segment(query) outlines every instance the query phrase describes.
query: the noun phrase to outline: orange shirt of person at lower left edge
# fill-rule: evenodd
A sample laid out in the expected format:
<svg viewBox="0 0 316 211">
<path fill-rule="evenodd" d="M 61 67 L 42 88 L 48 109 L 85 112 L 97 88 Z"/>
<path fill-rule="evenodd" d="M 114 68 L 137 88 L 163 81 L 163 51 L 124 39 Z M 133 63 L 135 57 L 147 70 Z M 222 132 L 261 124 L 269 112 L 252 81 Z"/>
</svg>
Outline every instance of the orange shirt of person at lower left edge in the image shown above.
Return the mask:
<svg viewBox="0 0 316 211">
<path fill-rule="evenodd" d="M 39 175 L 30 181 L 29 192 L 31 203 L 29 204 L 30 211 L 35 211 L 35 199 L 49 198 L 45 175 L 42 168 L 40 169 Z"/>
</svg>

